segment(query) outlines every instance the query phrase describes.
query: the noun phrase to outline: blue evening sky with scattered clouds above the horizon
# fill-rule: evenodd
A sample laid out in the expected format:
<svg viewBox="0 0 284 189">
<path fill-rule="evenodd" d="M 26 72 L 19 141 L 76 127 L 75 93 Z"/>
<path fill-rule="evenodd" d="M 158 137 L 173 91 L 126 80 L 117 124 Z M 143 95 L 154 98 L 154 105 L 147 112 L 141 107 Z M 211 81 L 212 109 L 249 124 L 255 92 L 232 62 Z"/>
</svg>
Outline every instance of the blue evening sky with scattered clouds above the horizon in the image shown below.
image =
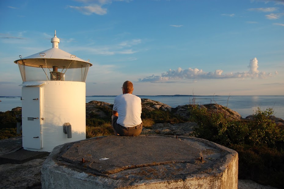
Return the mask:
<svg viewBox="0 0 284 189">
<path fill-rule="evenodd" d="M 284 95 L 284 1 L 0 1 L 0 96 L 19 55 L 59 48 L 93 64 L 86 95 Z"/>
</svg>

